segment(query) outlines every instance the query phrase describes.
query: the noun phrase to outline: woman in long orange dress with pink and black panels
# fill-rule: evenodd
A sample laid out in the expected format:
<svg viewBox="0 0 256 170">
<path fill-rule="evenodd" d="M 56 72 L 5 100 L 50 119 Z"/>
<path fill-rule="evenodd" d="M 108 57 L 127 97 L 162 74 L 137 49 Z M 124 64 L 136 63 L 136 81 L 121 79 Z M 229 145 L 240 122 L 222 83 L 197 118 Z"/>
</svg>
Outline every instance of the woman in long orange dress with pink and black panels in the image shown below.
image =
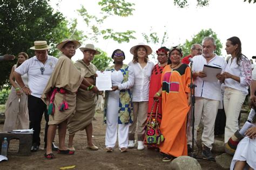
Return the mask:
<svg viewBox="0 0 256 170">
<path fill-rule="evenodd" d="M 181 63 L 180 47 L 172 47 L 169 56 L 171 64 L 163 70 L 162 89 L 158 91 L 162 97 L 160 130 L 165 138 L 159 146 L 163 161 L 187 155 L 186 120 L 190 109 L 190 67 Z"/>
</svg>

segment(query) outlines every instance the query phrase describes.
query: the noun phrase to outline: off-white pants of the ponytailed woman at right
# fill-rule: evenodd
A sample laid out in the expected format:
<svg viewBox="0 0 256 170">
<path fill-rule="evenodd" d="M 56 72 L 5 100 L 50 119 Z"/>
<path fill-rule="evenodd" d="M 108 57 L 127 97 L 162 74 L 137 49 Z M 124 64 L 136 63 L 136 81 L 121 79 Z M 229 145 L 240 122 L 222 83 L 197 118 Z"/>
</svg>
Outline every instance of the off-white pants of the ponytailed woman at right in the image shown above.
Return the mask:
<svg viewBox="0 0 256 170">
<path fill-rule="evenodd" d="M 226 113 L 225 143 L 239 129 L 238 117 L 246 95 L 240 90 L 226 87 L 224 93 L 224 109 Z"/>
</svg>

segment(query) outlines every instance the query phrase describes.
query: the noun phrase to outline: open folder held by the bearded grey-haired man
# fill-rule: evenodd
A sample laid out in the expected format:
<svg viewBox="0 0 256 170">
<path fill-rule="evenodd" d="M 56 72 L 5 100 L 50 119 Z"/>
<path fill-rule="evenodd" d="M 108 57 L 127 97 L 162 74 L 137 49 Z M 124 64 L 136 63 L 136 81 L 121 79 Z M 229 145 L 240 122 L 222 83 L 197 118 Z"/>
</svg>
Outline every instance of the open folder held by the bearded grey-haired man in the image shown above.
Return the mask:
<svg viewBox="0 0 256 170">
<path fill-rule="evenodd" d="M 203 72 L 206 74 L 206 77 L 203 77 L 201 79 L 208 82 L 218 82 L 216 75 L 218 73 L 221 73 L 221 70 L 222 69 L 219 67 L 204 65 Z"/>
</svg>

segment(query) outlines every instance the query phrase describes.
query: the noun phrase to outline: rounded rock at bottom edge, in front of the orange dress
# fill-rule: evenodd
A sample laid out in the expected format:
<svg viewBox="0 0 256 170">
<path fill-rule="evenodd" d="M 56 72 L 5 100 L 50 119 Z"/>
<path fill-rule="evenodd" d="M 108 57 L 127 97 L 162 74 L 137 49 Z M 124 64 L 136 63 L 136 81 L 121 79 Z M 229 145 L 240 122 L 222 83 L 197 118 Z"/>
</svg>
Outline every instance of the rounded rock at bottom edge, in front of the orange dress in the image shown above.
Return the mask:
<svg viewBox="0 0 256 170">
<path fill-rule="evenodd" d="M 175 170 L 201 170 L 201 166 L 198 161 L 192 157 L 181 156 L 176 159 L 173 159 L 171 164 L 169 164 L 168 169 Z"/>
</svg>

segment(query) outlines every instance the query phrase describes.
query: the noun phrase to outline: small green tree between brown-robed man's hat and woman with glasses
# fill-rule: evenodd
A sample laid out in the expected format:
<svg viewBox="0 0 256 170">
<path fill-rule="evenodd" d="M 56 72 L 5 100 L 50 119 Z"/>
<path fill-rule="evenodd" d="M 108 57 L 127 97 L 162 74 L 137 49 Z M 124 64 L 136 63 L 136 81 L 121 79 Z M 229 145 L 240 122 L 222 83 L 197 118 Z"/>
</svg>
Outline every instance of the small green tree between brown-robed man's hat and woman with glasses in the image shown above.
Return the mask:
<svg viewBox="0 0 256 170">
<path fill-rule="evenodd" d="M 98 68 L 98 70 L 105 70 L 105 68 L 109 66 L 109 63 L 112 61 L 112 59 L 107 56 L 106 52 L 99 48 L 97 48 L 97 50 L 100 52 L 100 54 L 95 55 L 92 63 Z"/>
</svg>

